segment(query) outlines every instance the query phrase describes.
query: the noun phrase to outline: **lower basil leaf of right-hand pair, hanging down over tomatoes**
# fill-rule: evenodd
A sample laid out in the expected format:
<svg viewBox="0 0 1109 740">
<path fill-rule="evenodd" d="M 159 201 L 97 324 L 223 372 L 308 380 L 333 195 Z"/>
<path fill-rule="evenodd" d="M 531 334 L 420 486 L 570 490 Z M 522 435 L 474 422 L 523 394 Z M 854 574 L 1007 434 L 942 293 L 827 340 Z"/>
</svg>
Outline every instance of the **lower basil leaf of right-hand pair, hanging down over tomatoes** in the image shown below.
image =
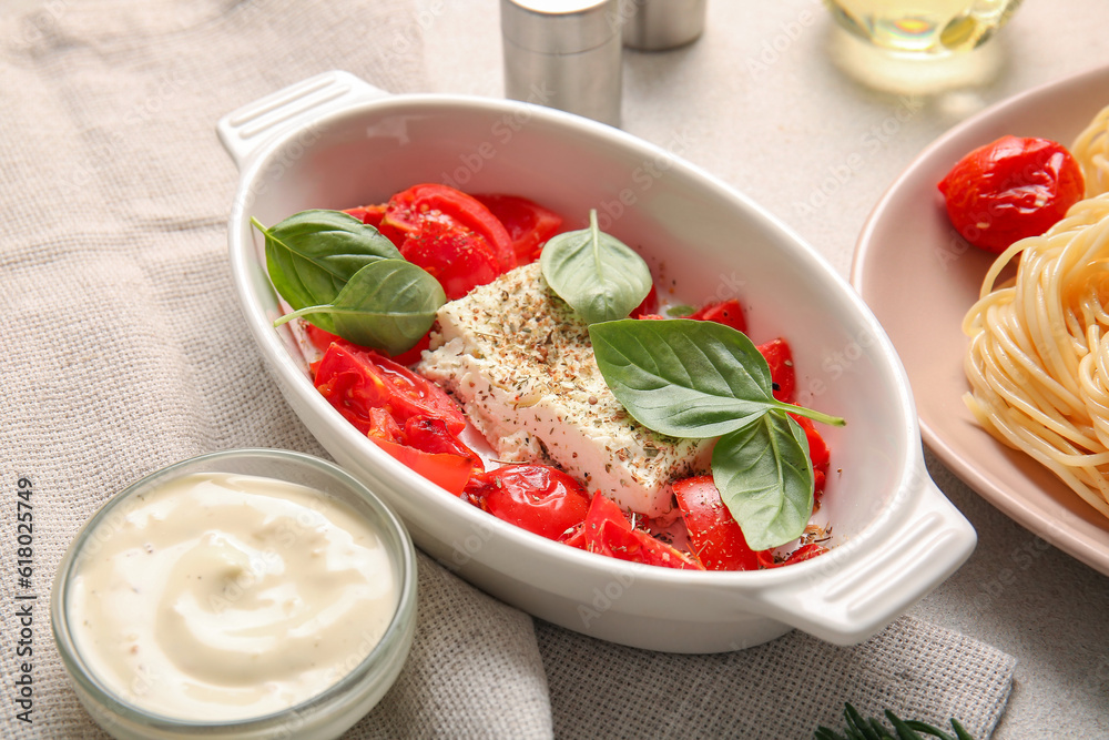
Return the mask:
<svg viewBox="0 0 1109 740">
<path fill-rule="evenodd" d="M 800 537 L 813 514 L 813 464 L 801 425 L 780 410 L 725 434 L 712 479 L 753 550 Z"/>
</svg>

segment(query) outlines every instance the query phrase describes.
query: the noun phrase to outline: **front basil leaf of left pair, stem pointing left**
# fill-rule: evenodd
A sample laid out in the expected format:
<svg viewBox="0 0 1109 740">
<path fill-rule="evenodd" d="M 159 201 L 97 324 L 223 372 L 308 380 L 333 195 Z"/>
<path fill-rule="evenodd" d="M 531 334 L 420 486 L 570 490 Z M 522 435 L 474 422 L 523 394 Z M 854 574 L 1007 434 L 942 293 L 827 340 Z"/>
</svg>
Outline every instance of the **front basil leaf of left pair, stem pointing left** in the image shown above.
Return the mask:
<svg viewBox="0 0 1109 740">
<path fill-rule="evenodd" d="M 442 286 L 426 271 L 405 260 L 378 260 L 355 273 L 333 303 L 286 314 L 275 325 L 327 316 L 344 339 L 397 355 L 427 334 L 446 302 Z"/>
</svg>

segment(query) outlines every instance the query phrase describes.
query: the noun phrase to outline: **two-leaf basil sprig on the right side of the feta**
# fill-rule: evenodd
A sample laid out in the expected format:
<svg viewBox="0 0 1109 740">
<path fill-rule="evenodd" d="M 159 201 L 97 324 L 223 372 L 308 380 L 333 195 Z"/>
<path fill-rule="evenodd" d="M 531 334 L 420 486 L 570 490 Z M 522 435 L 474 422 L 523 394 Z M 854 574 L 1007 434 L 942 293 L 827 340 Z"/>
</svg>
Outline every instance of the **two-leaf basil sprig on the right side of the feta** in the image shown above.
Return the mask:
<svg viewBox="0 0 1109 740">
<path fill-rule="evenodd" d="M 752 549 L 804 533 L 814 476 L 808 439 L 790 414 L 842 418 L 774 398 L 757 347 L 716 322 L 604 322 L 589 337 L 604 382 L 637 422 L 674 437 L 720 437 L 713 481 Z"/>
</svg>

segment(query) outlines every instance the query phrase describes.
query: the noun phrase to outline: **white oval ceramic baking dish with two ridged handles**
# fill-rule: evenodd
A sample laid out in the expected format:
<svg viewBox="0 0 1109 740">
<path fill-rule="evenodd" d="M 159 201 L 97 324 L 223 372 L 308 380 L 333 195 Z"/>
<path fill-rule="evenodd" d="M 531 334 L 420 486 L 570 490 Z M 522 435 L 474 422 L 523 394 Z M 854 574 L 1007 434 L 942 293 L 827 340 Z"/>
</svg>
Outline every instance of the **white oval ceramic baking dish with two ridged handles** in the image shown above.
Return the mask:
<svg viewBox="0 0 1109 740">
<path fill-rule="evenodd" d="M 791 628 L 849 645 L 949 576 L 974 529 L 924 467 L 905 373 L 847 283 L 744 195 L 617 129 L 528 103 L 389 95 L 328 72 L 222 119 L 242 181 L 231 265 L 243 315 L 285 398 L 416 544 L 489 594 L 587 635 L 676 652 L 751 647 Z M 823 521 L 834 549 L 786 568 L 692 572 L 634 566 L 497 520 L 416 476 L 316 393 L 250 217 L 383 202 L 419 182 L 531 197 L 639 249 L 668 297 L 739 297 L 752 338 L 786 336 L 798 401 L 847 419 L 832 447 Z M 672 295 L 669 288 L 672 286 Z M 258 378 L 260 383 L 267 382 Z"/>
</svg>

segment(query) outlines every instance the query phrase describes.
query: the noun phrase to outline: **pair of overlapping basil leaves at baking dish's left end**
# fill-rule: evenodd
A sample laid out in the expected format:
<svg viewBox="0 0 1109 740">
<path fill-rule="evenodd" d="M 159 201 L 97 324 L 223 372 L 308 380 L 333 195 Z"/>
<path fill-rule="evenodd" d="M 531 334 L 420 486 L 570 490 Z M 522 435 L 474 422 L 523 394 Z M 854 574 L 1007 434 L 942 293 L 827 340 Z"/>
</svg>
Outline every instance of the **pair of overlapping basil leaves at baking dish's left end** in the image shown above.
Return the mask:
<svg viewBox="0 0 1109 740">
<path fill-rule="evenodd" d="M 354 216 L 309 210 L 268 229 L 257 219 L 251 223 L 265 236 L 269 280 L 294 310 L 274 326 L 304 317 L 396 355 L 427 333 L 447 301 L 435 277 Z"/>
</svg>

